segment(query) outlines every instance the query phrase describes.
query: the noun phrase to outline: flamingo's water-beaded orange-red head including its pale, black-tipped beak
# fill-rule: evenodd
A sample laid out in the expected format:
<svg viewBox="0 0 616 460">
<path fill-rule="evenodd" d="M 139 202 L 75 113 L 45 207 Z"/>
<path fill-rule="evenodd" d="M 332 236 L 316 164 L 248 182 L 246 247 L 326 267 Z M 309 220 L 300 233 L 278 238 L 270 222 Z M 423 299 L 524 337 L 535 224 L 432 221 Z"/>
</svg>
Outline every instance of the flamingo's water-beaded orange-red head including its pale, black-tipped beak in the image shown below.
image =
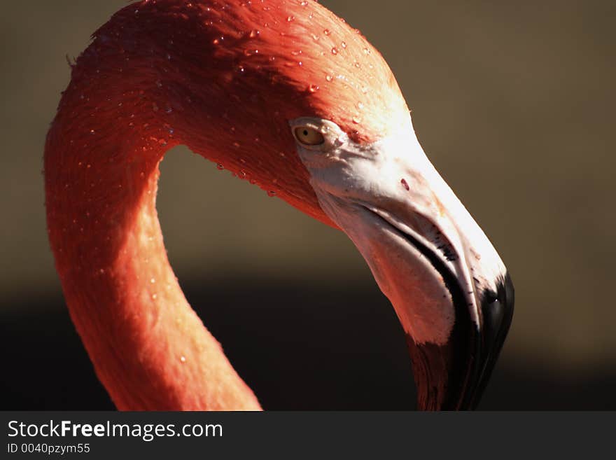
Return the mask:
<svg viewBox="0 0 616 460">
<path fill-rule="evenodd" d="M 423 153 L 380 53 L 315 1 L 145 1 L 123 14 L 113 27 L 134 37 L 123 46 L 166 57 L 139 81 L 165 126 L 342 229 L 398 314 L 419 408 L 475 407 L 510 325 L 512 284 Z M 114 32 L 97 32 L 99 53 Z M 146 39 L 158 48 L 139 51 Z"/>
</svg>

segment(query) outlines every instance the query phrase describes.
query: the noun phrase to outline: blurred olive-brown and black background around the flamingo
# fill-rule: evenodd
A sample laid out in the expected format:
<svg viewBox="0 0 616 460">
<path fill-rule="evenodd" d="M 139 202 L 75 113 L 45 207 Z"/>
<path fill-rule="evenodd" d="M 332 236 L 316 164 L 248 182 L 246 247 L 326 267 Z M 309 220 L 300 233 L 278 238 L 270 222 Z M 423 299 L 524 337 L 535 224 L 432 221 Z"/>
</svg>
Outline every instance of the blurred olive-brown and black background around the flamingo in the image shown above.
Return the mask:
<svg viewBox="0 0 616 460">
<path fill-rule="evenodd" d="M 482 409 L 616 409 L 614 1 L 322 4 L 386 57 L 424 150 L 510 270 Z M 111 402 L 45 235 L 43 141 L 77 56 L 125 0 L 5 2 L 1 409 Z M 158 200 L 188 300 L 267 409 L 407 409 L 402 330 L 342 232 L 176 148 Z"/>
</svg>

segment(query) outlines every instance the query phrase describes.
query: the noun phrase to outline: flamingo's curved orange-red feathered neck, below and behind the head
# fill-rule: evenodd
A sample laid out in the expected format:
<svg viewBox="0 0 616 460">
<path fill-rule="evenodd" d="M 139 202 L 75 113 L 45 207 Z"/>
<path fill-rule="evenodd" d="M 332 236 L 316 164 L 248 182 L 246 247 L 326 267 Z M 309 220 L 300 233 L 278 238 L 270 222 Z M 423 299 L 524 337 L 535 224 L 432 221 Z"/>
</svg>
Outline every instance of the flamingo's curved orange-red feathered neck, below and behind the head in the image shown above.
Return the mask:
<svg viewBox="0 0 616 460">
<path fill-rule="evenodd" d="M 258 410 L 188 305 L 162 242 L 158 165 L 188 143 L 174 137 L 182 120 L 153 102 L 158 85 L 131 88 L 121 73 L 88 70 L 95 51 L 73 69 L 45 145 L 50 243 L 94 369 L 122 410 Z"/>
</svg>

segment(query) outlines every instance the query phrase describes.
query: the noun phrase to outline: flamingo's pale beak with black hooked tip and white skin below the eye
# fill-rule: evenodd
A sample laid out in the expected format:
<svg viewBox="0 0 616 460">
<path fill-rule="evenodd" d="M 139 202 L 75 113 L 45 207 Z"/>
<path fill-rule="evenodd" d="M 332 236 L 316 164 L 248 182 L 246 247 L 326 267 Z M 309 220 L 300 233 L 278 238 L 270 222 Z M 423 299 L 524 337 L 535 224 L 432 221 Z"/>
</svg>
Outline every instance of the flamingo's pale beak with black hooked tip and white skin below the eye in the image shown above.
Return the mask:
<svg viewBox="0 0 616 460">
<path fill-rule="evenodd" d="M 495 249 L 411 130 L 302 151 L 325 214 L 348 235 L 407 335 L 420 410 L 472 410 L 513 314 Z"/>
</svg>

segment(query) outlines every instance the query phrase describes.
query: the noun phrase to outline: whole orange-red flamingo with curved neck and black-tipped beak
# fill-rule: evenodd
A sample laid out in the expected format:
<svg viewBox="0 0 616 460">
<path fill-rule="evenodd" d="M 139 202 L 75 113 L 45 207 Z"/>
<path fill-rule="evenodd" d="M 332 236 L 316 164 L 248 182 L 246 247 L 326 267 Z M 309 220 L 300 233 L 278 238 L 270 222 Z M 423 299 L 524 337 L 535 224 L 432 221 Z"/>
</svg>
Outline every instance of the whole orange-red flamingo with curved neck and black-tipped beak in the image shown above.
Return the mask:
<svg viewBox="0 0 616 460">
<path fill-rule="evenodd" d="M 155 207 L 183 144 L 348 235 L 407 336 L 419 410 L 477 406 L 513 286 L 379 52 L 316 1 L 144 0 L 72 65 L 45 143 L 66 305 L 118 410 L 260 410 L 184 297 Z"/>
</svg>

